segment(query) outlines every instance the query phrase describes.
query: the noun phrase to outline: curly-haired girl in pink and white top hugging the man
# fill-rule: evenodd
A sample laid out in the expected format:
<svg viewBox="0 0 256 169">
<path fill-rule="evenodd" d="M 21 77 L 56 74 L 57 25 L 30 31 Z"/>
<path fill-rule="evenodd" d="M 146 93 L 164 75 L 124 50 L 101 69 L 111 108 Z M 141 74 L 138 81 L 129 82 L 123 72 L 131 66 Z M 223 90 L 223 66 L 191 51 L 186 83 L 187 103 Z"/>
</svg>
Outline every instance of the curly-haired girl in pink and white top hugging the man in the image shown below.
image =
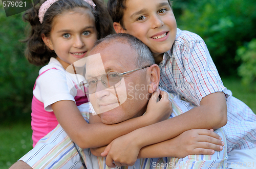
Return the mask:
<svg viewBox="0 0 256 169">
<path fill-rule="evenodd" d="M 49 62 L 40 69 L 33 90 L 33 146 L 58 123 L 79 147 L 95 147 L 97 144 L 102 146 L 110 143 L 117 136 L 113 134 L 113 138 L 102 140 L 99 139 L 102 133 L 118 133 L 126 124 L 111 127 L 102 127 L 103 124 L 88 125 L 77 108 L 77 105 L 88 101 L 84 94 L 81 95 L 82 92 L 75 82 L 84 80 L 84 77 L 66 73 L 69 65 L 87 57 L 97 38 L 113 32 L 111 19 L 102 1 L 48 0 L 40 8 L 35 7 L 25 13 L 24 18 L 32 26 L 27 39 L 28 60 L 35 65 Z M 163 109 L 162 112 L 165 112 L 161 104 L 161 101 L 158 102 Z M 170 110 L 169 105 L 165 107 Z M 154 114 L 151 115 L 150 112 L 151 110 L 148 110 L 142 119 L 157 116 L 154 109 Z M 146 120 L 141 123 L 139 120 L 138 123 L 137 119 L 140 118 L 131 120 L 132 125 L 130 128 L 126 127 L 126 132 L 160 121 L 164 114 L 160 112 L 158 115 L 154 122 Z M 99 129 L 101 132 L 95 133 Z"/>
</svg>

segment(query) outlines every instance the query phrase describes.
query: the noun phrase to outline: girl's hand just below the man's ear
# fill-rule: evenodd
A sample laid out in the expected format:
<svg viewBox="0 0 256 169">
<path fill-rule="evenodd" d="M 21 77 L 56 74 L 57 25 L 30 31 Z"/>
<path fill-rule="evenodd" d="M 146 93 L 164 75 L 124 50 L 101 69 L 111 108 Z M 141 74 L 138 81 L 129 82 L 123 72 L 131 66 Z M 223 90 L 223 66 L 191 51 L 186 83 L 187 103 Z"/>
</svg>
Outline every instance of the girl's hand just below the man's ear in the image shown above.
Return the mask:
<svg viewBox="0 0 256 169">
<path fill-rule="evenodd" d="M 158 98 L 160 96 L 160 100 Z M 173 112 L 172 102 L 169 100 L 169 95 L 157 89 L 151 96 L 147 104 L 146 114 L 150 120 L 154 120 L 154 123 L 161 122 L 169 118 Z"/>
</svg>

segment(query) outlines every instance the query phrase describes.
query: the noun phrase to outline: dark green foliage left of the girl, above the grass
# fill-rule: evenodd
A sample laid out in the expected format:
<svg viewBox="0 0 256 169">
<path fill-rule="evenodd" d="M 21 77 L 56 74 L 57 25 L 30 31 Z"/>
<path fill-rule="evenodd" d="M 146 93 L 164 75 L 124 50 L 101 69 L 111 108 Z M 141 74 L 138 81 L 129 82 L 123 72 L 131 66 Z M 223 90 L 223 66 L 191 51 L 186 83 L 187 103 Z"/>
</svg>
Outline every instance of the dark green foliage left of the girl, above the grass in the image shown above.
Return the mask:
<svg viewBox="0 0 256 169">
<path fill-rule="evenodd" d="M 0 6 L 3 9 L 3 6 Z M 24 56 L 25 25 L 22 14 L 6 17 L 0 11 L 0 122 L 30 119 L 32 90 L 38 67 Z"/>
</svg>

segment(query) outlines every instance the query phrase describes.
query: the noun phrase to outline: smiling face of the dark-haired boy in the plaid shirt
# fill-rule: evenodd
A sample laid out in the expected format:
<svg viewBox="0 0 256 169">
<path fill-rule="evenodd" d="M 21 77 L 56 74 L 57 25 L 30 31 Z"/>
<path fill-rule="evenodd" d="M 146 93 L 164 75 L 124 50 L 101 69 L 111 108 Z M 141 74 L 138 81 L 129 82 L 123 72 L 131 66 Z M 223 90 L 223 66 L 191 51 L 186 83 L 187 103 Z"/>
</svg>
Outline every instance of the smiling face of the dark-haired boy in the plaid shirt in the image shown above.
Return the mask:
<svg viewBox="0 0 256 169">
<path fill-rule="evenodd" d="M 127 0 L 123 30 L 145 43 L 154 56 L 172 48 L 177 33 L 168 0 Z"/>
</svg>

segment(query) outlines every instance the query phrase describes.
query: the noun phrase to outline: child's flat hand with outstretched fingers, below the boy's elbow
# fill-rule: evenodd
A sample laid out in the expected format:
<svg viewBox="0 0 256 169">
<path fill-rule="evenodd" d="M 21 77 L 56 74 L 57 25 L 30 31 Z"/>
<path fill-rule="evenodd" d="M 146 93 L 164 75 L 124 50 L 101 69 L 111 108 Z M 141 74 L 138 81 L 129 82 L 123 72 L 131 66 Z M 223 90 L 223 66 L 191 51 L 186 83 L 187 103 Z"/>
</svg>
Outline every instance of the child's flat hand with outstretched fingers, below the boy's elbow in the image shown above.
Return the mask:
<svg viewBox="0 0 256 169">
<path fill-rule="evenodd" d="M 177 153 L 175 154 L 177 158 L 183 158 L 190 154 L 212 155 L 215 151 L 222 151 L 224 146 L 221 137 L 213 129 L 188 130 L 167 142 L 174 149 L 172 152 Z"/>
</svg>

